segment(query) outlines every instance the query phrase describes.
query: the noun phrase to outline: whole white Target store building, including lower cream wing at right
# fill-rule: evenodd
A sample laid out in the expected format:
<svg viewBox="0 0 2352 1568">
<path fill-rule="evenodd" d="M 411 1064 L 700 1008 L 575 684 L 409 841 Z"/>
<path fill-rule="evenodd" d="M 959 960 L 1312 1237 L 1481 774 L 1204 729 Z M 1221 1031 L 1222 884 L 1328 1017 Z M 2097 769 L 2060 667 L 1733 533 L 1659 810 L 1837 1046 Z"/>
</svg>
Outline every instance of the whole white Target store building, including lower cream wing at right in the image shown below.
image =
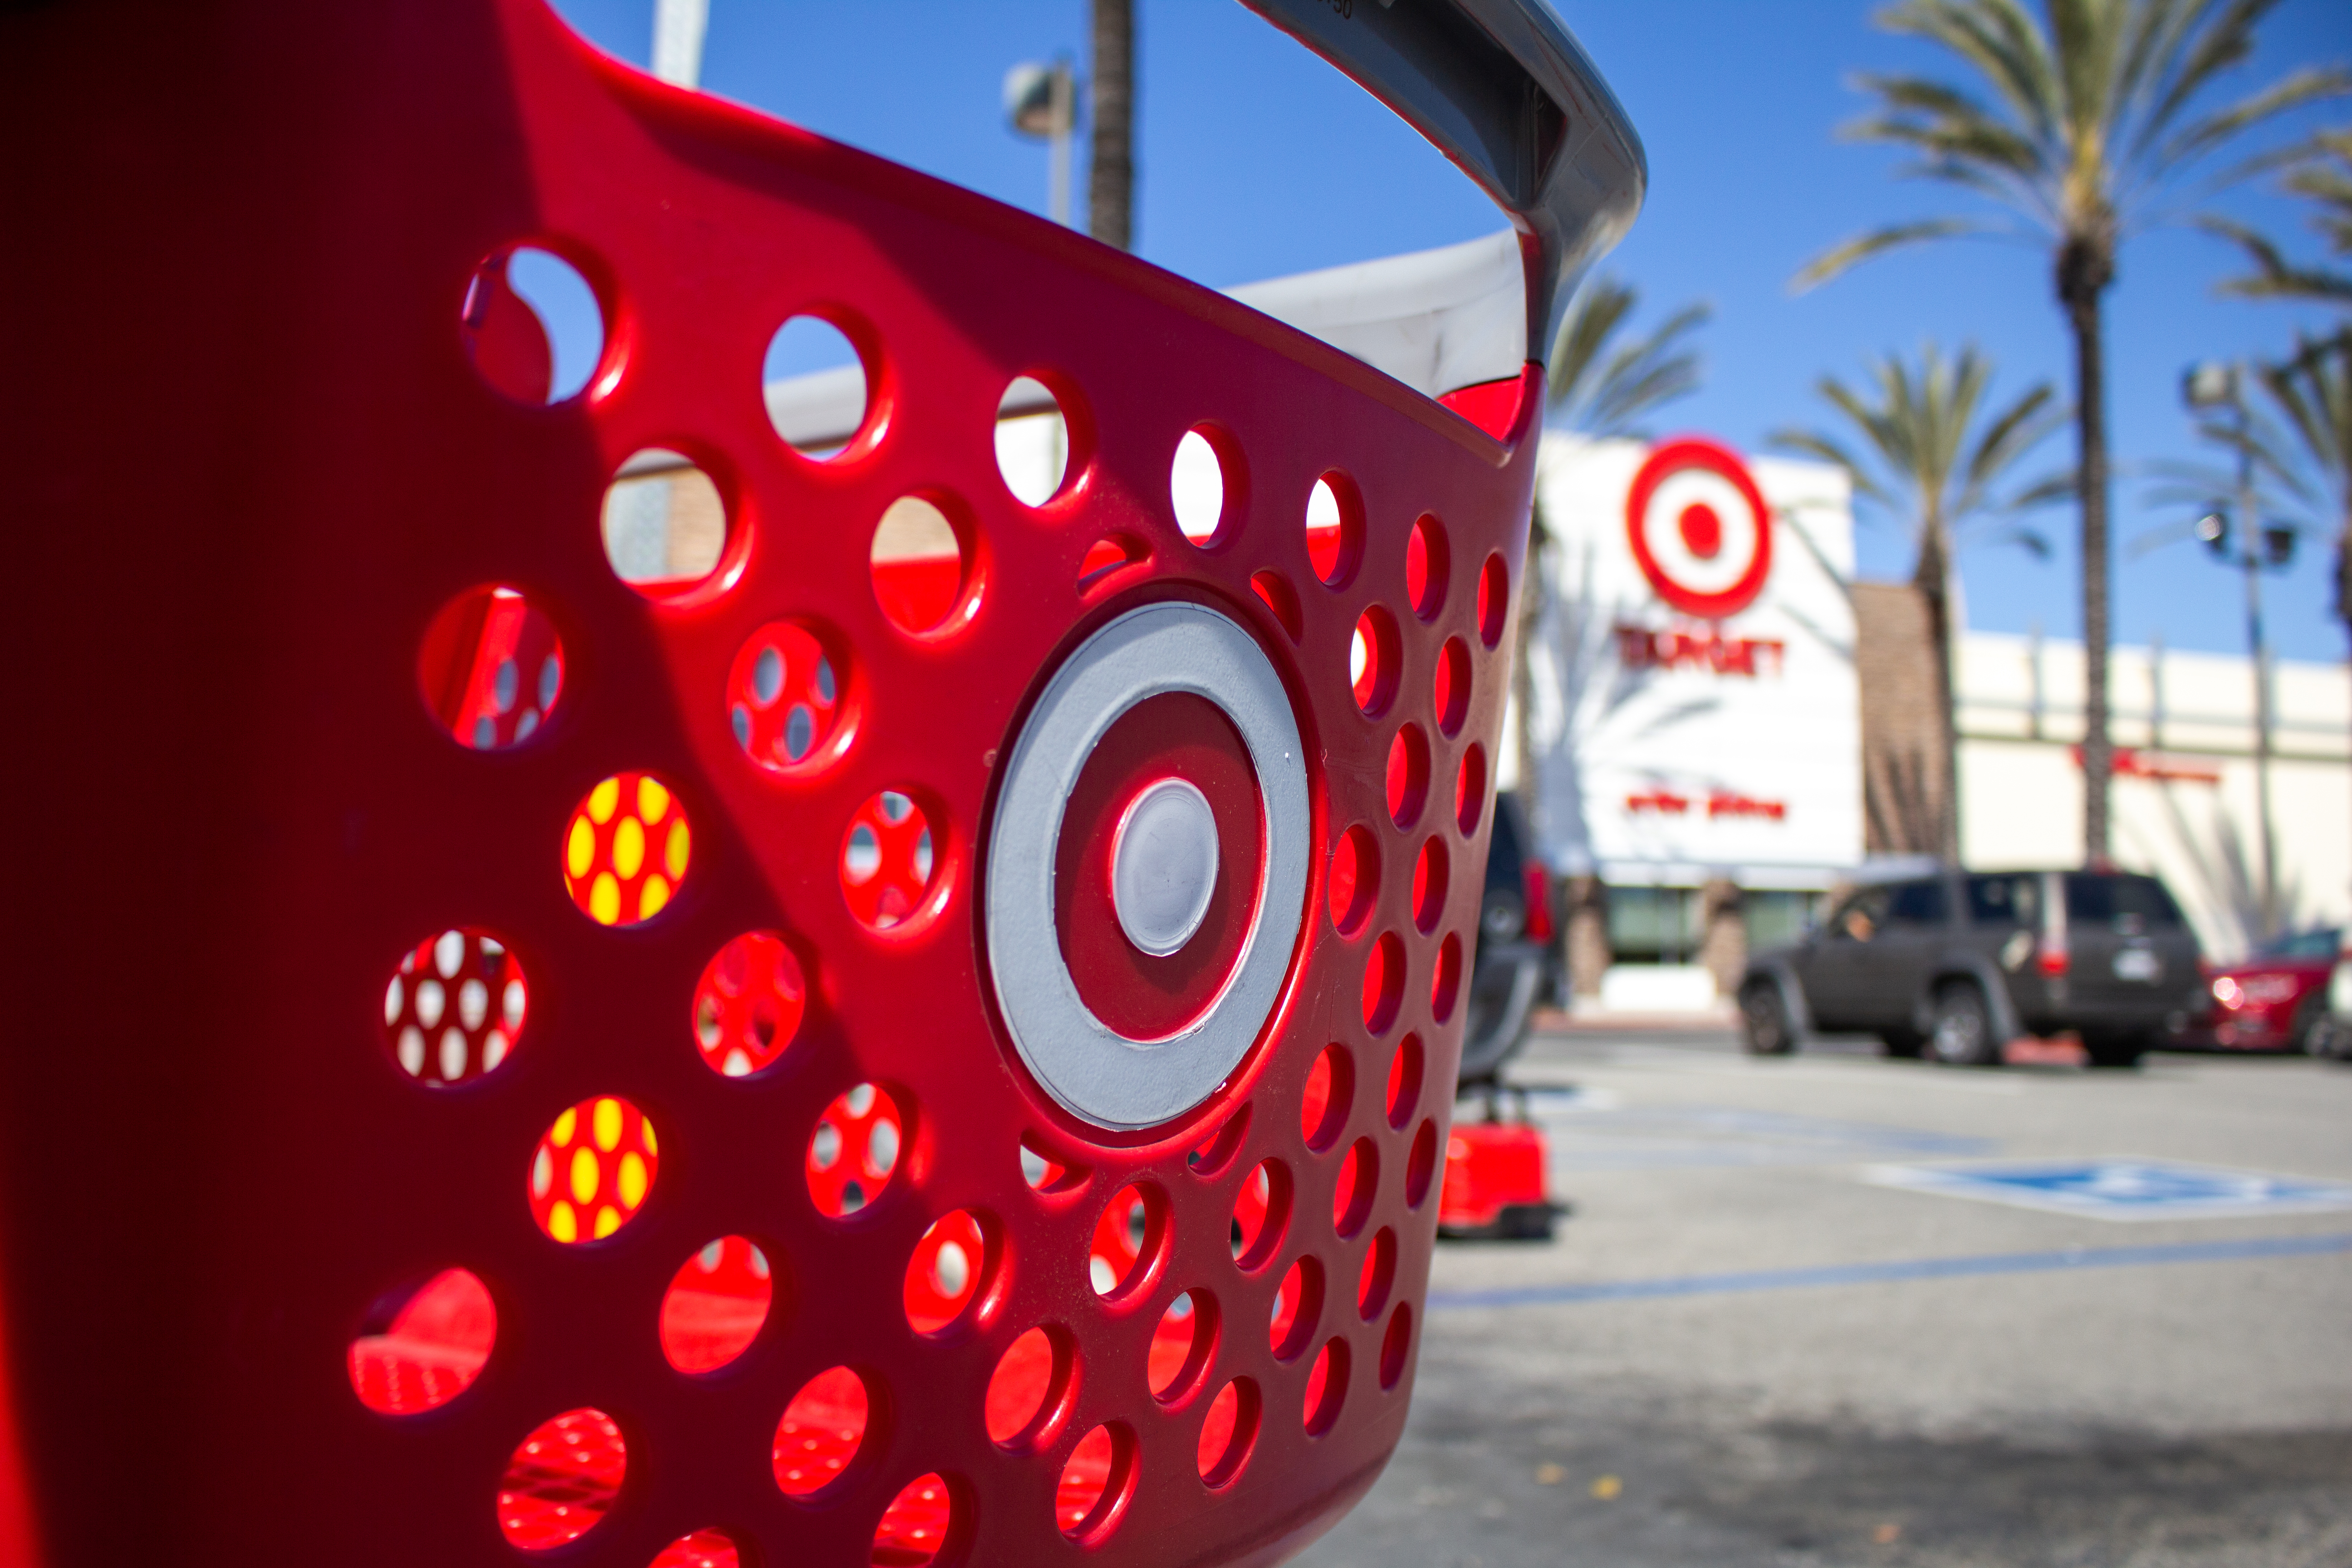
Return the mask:
<svg viewBox="0 0 2352 1568">
<path fill-rule="evenodd" d="M 1708 442 L 1543 440 L 1522 792 L 1552 867 L 1606 889 L 1609 969 L 1581 1006 L 1722 1009 L 1719 910 L 1736 947 L 1785 940 L 1835 884 L 1896 870 L 1865 853 L 1863 698 L 1893 675 L 1858 635 L 1851 489 L 1823 463 L 1724 454 L 1743 489 Z M 1964 632 L 1957 679 L 1962 858 L 2077 865 L 2082 646 Z M 2347 924 L 2352 682 L 2317 663 L 2272 682 L 2279 912 Z M 2251 661 L 2114 649 L 2110 691 L 2114 858 L 2161 875 L 2206 952 L 2234 959 L 2260 886 Z"/>
</svg>

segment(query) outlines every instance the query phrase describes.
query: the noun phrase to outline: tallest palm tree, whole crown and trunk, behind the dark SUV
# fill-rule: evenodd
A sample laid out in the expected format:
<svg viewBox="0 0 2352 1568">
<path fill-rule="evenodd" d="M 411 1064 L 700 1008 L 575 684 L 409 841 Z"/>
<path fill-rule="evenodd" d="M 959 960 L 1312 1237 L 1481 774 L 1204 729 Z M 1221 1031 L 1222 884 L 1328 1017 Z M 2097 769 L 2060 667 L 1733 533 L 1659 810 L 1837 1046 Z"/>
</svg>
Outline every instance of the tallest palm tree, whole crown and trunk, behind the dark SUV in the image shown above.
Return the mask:
<svg viewBox="0 0 2352 1568">
<path fill-rule="evenodd" d="M 1898 0 L 1882 28 L 1943 45 L 1978 78 L 1971 92 L 1924 75 L 1865 75 L 1877 108 L 1849 127 L 1919 155 L 1910 174 L 1983 197 L 1978 216 L 1891 223 L 1797 273 L 1835 277 L 1882 252 L 1952 235 L 2030 233 L 2074 336 L 2074 494 L 2082 510 L 2084 858 L 2107 858 L 2107 350 L 2103 303 L 2117 252 L 2173 219 L 2166 205 L 2223 148 L 2277 115 L 2343 94 L 2343 68 L 2291 71 L 2220 108 L 2199 108 L 2253 54 L 2277 0 Z M 2225 169 L 2204 190 L 2246 179 Z"/>
</svg>

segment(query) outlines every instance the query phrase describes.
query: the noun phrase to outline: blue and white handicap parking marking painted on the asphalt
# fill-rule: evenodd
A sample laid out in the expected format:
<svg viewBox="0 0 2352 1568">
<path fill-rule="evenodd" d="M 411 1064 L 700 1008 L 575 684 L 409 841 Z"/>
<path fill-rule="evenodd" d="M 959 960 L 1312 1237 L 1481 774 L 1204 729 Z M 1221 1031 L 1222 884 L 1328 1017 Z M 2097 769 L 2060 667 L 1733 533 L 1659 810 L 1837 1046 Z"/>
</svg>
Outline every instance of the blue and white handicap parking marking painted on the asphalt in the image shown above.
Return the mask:
<svg viewBox="0 0 2352 1568">
<path fill-rule="evenodd" d="M 2161 1159 L 1870 1166 L 1863 1180 L 2091 1220 L 2220 1220 L 2352 1208 L 2352 1185 Z"/>
</svg>

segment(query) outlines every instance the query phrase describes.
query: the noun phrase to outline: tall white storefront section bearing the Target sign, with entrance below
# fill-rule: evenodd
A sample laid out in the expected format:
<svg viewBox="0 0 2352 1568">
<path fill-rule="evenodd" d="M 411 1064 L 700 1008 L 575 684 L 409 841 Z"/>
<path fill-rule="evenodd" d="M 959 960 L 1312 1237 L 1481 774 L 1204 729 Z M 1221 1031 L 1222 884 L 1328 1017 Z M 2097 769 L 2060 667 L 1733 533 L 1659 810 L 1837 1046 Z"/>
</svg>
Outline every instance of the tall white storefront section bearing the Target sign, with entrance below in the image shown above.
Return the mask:
<svg viewBox="0 0 2352 1568">
<path fill-rule="evenodd" d="M 1545 435 L 1522 788 L 1581 1006 L 1719 1011 L 1865 853 L 1853 515 L 1825 463 Z M 1515 715 L 1517 722 L 1517 715 Z"/>
</svg>

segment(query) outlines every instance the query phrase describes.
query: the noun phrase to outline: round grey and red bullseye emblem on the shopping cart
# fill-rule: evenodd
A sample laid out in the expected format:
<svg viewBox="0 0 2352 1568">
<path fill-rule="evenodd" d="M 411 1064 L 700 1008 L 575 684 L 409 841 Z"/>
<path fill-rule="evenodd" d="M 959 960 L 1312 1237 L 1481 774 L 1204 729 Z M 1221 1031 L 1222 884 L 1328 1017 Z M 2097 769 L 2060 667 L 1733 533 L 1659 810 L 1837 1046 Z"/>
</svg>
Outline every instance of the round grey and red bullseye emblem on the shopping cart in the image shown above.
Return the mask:
<svg viewBox="0 0 2352 1568">
<path fill-rule="evenodd" d="M 1308 832 L 1298 719 L 1249 632 L 1171 602 L 1082 642 L 988 842 L 988 969 L 1040 1086 L 1120 1131 L 1209 1098 L 1282 992 Z"/>
</svg>

